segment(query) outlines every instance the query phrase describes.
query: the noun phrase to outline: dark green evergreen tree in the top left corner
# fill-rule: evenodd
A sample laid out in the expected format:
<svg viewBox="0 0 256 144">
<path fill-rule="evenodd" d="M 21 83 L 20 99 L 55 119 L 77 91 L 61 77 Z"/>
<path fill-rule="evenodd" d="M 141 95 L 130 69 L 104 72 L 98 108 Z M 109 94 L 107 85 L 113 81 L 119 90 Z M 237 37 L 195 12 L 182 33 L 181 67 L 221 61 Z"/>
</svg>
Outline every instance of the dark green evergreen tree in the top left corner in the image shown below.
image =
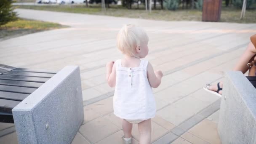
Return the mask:
<svg viewBox="0 0 256 144">
<path fill-rule="evenodd" d="M 0 0 L 0 27 L 9 21 L 17 19 L 17 13 L 13 11 L 11 0 Z"/>
</svg>

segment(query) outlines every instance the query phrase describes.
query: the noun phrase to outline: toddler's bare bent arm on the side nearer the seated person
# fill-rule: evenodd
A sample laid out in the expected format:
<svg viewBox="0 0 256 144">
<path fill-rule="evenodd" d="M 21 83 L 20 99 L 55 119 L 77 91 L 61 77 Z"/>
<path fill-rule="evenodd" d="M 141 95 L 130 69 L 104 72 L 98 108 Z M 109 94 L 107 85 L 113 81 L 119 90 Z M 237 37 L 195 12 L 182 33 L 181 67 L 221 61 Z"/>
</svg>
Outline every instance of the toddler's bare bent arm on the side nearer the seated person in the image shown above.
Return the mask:
<svg viewBox="0 0 256 144">
<path fill-rule="evenodd" d="M 161 84 L 161 79 L 163 77 L 162 71 L 158 70 L 154 72 L 154 69 L 150 63 L 147 66 L 147 75 L 149 78 L 149 84 L 152 88 L 157 88 Z"/>
</svg>

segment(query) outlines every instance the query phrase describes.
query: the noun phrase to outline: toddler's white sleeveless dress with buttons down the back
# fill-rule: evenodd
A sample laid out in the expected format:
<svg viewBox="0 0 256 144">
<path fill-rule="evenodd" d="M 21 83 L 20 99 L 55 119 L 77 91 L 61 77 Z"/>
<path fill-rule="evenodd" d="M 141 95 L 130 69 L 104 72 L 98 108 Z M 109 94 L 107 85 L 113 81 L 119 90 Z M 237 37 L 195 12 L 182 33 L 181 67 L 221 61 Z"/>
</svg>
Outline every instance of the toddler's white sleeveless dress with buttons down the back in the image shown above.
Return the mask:
<svg viewBox="0 0 256 144">
<path fill-rule="evenodd" d="M 122 67 L 115 61 L 116 84 L 113 98 L 114 114 L 126 120 L 147 120 L 155 117 L 156 104 L 147 78 L 148 61 L 139 67 Z"/>
</svg>

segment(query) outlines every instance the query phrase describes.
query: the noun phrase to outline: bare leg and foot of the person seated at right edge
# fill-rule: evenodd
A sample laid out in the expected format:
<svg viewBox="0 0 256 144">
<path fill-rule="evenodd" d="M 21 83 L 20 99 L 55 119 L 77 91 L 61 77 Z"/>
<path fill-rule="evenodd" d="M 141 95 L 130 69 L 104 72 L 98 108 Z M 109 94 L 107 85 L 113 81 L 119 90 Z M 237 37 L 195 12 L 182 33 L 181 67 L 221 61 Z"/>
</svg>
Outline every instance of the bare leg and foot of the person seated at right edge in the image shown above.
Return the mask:
<svg viewBox="0 0 256 144">
<path fill-rule="evenodd" d="M 242 54 L 242 56 L 240 57 L 239 61 L 237 62 L 237 64 L 234 67 L 234 71 L 241 71 L 243 72 L 243 74 L 245 72 L 248 71 L 249 67 L 247 67 L 248 61 L 256 54 L 256 48 L 254 47 L 254 45 L 250 42 L 248 47 L 246 48 L 245 52 Z M 249 72 L 249 75 L 253 75 L 253 72 L 256 67 L 252 67 L 252 69 L 250 70 L 251 72 Z M 253 70 L 254 69 L 254 70 Z M 254 72 L 254 76 L 255 76 L 255 72 Z M 223 83 L 220 82 L 219 83 L 220 88 L 223 88 Z M 211 85 L 209 87 L 209 90 L 211 91 L 217 91 L 218 90 L 218 86 L 217 84 L 215 85 Z M 222 94 L 222 91 L 219 91 L 219 94 Z"/>
</svg>

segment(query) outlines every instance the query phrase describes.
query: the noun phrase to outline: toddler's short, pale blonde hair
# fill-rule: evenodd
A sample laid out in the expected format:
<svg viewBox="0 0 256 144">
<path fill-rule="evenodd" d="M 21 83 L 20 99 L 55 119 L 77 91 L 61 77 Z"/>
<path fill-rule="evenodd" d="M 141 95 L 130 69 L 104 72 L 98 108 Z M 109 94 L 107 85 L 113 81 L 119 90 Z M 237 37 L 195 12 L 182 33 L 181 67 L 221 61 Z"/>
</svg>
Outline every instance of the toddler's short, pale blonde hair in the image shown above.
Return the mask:
<svg viewBox="0 0 256 144">
<path fill-rule="evenodd" d="M 117 48 L 123 53 L 134 56 L 136 47 L 141 43 L 147 43 L 149 37 L 141 27 L 134 24 L 124 25 L 117 34 Z"/>
</svg>

